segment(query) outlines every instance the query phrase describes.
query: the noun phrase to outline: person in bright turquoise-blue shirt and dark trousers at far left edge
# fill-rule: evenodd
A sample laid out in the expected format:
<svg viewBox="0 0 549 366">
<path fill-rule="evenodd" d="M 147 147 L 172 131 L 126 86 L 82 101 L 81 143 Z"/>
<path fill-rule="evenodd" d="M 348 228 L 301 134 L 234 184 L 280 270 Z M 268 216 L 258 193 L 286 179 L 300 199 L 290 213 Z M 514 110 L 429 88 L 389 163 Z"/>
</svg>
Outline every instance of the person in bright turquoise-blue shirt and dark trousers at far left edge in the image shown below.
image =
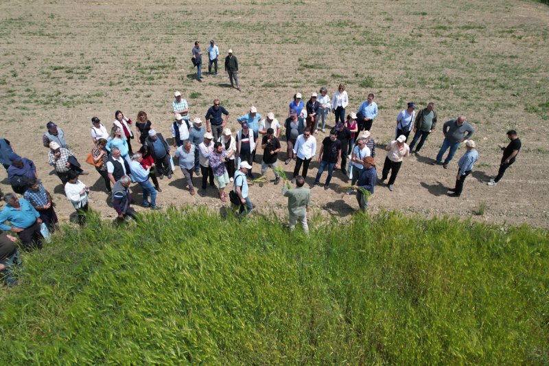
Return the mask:
<svg viewBox="0 0 549 366">
<path fill-rule="evenodd" d="M 25 250 L 34 247 L 42 248 L 43 236 L 40 233 L 40 214 L 25 198 L 18 198 L 14 193 L 5 194 L 3 200 L 7 205 L 0 211 L 0 230 L 17 233 Z M 5 222 L 9 221 L 10 225 Z"/>
</svg>

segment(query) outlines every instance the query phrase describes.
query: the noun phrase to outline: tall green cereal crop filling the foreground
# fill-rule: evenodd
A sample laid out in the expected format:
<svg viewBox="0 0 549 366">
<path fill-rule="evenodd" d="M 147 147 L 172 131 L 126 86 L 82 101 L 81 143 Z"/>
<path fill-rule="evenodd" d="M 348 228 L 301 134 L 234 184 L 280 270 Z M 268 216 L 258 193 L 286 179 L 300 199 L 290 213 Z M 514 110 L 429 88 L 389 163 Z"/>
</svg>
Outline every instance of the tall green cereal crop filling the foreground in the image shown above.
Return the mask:
<svg viewBox="0 0 549 366">
<path fill-rule="evenodd" d="M 170 208 L 64 227 L 0 293 L 3 363 L 549 362 L 546 231 L 384 212 L 309 226 Z"/>
</svg>

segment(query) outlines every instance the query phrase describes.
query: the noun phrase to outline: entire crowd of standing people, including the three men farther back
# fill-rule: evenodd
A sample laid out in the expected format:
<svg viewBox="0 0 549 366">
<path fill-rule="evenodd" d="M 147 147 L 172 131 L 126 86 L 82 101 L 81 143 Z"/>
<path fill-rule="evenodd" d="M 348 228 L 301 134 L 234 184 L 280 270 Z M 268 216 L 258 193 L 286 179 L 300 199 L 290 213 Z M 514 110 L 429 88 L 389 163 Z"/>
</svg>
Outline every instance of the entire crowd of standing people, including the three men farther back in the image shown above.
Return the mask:
<svg viewBox="0 0 549 366">
<path fill-rule="evenodd" d="M 196 46 L 194 56 L 200 64 L 200 45 Z M 214 66 L 214 76 L 218 68 L 219 52 L 216 48 L 212 40 L 209 73 L 212 74 Z M 234 58 L 237 70 L 231 50 L 227 57 L 229 63 L 226 59 L 226 68 L 229 65 L 231 70 L 231 60 Z M 199 68 L 199 79 L 200 72 Z M 234 79 L 239 88 L 236 75 L 235 71 L 231 83 Z M 311 93 L 307 102 L 303 101 L 301 93 L 295 93 L 283 123 L 279 122 L 274 113 L 269 112 L 266 117 L 262 117 L 255 106 L 250 106 L 248 113 L 235 118 L 239 128 L 233 131 L 228 126 L 230 113 L 220 100 L 213 100 L 203 124 L 202 118 L 190 117 L 189 104 L 180 91 L 176 91 L 171 108 L 174 120 L 169 129 L 165 129 L 171 133 L 171 139 L 153 128 L 156 126 L 153 126 L 144 111 L 137 113 L 135 122 L 122 111 L 116 111 L 110 126 L 103 124 L 98 117 L 92 117 L 90 133 L 93 148 L 86 157 L 86 163 L 93 165 L 102 177 L 106 194 L 110 196 L 120 221 L 131 220 L 138 215 L 132 207 L 129 189 L 132 183 L 141 187 L 142 207 L 162 209 L 156 203 L 159 192 L 162 192 L 159 180 L 164 177 L 172 179 L 175 174 L 174 158 L 190 195 L 197 193 L 193 176 L 201 175 L 200 195 L 204 196 L 208 189 L 214 190 L 223 204 L 230 201 L 235 211 L 244 217 L 254 208 L 248 184 L 256 178 L 253 168 L 257 162 L 256 152 L 260 148 L 263 152 L 261 176 L 266 176 L 270 168 L 274 172 L 274 185 L 283 181 L 281 194 L 288 197 L 290 229 L 294 229 L 299 219 L 304 231 L 308 233 L 307 209 L 311 188 L 320 185 L 325 171 L 325 190 L 330 187 L 334 171 L 340 170 L 350 182 L 345 188 L 346 193 L 355 192 L 358 207 L 366 211 L 375 185 L 383 186 L 388 179 L 386 187 L 393 191 L 404 159 L 410 154 L 419 153 L 430 134 L 435 131 L 438 115 L 434 111 L 434 103 L 429 103 L 419 113 L 413 102 L 408 103 L 407 108 L 397 115 L 394 139 L 384 146 L 386 154 L 382 158 L 384 163 L 381 177 L 378 178 L 376 147 L 379 146 L 376 146 L 372 135 L 378 114 L 374 99 L 375 96 L 370 93 L 356 112 L 348 112 L 349 98 L 344 84 L 338 86 L 331 98 L 325 87 L 320 88 L 318 94 Z M 328 135 L 317 141 L 318 135 L 325 133 L 326 127 L 331 124 L 329 113 L 334 115 L 334 124 Z M 283 129 L 286 144 L 284 156 L 280 139 Z M 408 145 L 412 132 L 414 136 Z M 443 165 L 447 169 L 460 144 L 464 143 L 466 148 L 465 154 L 458 161 L 455 187 L 449 189 L 449 196 L 458 197 L 463 193 L 465 179 L 478 161 L 476 143 L 471 139 L 474 129 L 464 115 L 459 115 L 445 122 L 442 132 L 443 143 L 433 165 Z M 487 182 L 488 185 L 496 185 L 502 179 L 521 148 L 515 130 L 509 130 L 507 136 L 511 142 L 508 146 L 502 146 L 500 170 L 493 180 Z M 82 169 L 67 144 L 62 128 L 54 122 L 46 124 L 42 142 L 49 150 L 47 163 L 54 168 L 65 188 L 78 222 L 84 225 L 86 211 L 89 210 L 89 186 L 80 181 L 80 176 L 89 173 Z M 444 158 L 447 150 L 449 152 Z M 309 188 L 305 187 L 305 179 L 313 159 L 318 161 L 318 172 Z M 20 262 L 14 242 L 19 238 L 25 250 L 40 248 L 49 232 L 56 230 L 58 218 L 51 194 L 38 179 L 35 163 L 18 155 L 8 139 L 0 139 L 0 161 L 7 170 L 14 192 L 3 196 L 6 205 L 0 211 L 0 229 L 3 231 L 0 236 L 0 271 L 4 273 L 5 282 L 12 285 L 16 279 L 10 268 Z M 288 180 L 279 162 L 285 165 L 294 163 L 292 176 Z M 230 183 L 233 183 L 232 187 Z M 292 187 L 292 184 L 295 186 Z"/>
</svg>

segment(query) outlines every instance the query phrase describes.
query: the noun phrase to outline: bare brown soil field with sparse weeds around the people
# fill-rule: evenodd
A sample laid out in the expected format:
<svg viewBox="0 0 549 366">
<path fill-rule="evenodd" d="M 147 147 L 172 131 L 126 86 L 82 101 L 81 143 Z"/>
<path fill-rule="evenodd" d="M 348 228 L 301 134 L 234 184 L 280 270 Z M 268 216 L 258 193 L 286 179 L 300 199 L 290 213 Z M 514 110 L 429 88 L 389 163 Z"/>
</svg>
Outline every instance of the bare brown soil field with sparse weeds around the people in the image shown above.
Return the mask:
<svg viewBox="0 0 549 366">
<path fill-rule="evenodd" d="M 415 102 L 419 111 L 432 101 L 439 113 L 439 128 L 421 155 L 404 161 L 395 191 L 376 187 L 371 211 L 399 209 L 428 218 L 449 215 L 549 226 L 547 5 L 480 0 L 3 1 L 0 17 L 0 137 L 36 163 L 62 220 L 73 207 L 47 165 L 41 138 L 48 121 L 65 131 L 71 150 L 86 165 L 93 147 L 93 116 L 110 128 L 116 110 L 133 120 L 143 110 L 153 128 L 170 136 L 173 93 L 180 90 L 191 117 L 203 119 L 213 99 L 219 98 L 235 131 L 236 117 L 251 105 L 261 115 L 274 112 L 283 123 L 294 93 L 308 100 L 310 93 L 327 87 L 333 95 L 344 82 L 350 99 L 347 113 L 375 93 L 379 116 L 372 133 L 379 176 L 383 146 L 394 137 L 396 117 L 406 102 Z M 198 40 L 206 55 L 211 38 L 220 47 L 220 58 L 229 48 L 237 56 L 241 92 L 231 89 L 222 70 L 217 78 L 206 76 L 207 61 L 203 82 L 196 81 L 191 48 Z M 462 196 L 451 198 L 446 191 L 454 187 L 457 161 L 465 148 L 458 150 L 448 170 L 430 163 L 443 141 L 443 122 L 459 114 L 476 130 L 473 139 L 480 159 Z M 498 172 L 498 144 L 507 144 L 510 128 L 518 131 L 522 150 L 504 179 L 488 187 L 489 176 Z M 319 145 L 323 137 L 317 136 Z M 281 144 L 284 151 L 285 141 Z M 132 145 L 139 146 L 137 139 Z M 284 165 L 283 159 L 285 153 L 279 163 L 290 175 L 294 163 Z M 256 174 L 259 166 L 254 165 Z M 90 172 L 81 179 L 91 186 L 91 208 L 114 218 L 100 175 L 91 165 L 84 168 Z M 312 163 L 307 184 L 313 183 L 317 168 L 318 163 Z M 259 211 L 282 218 L 286 199 L 281 185 L 272 184 L 271 170 L 268 177 L 270 183 L 250 188 L 250 198 Z M 10 192 L 7 175 L 0 179 L 3 192 Z M 194 178 L 198 187 L 200 179 Z M 178 168 L 171 180 L 160 183 L 161 206 L 222 207 L 211 189 L 205 197 L 183 190 Z M 358 209 L 355 197 L 336 192 L 339 185 L 348 184 L 347 177 L 336 172 L 329 190 L 314 188 L 314 211 L 326 217 L 353 214 Z M 140 203 L 141 188 L 133 187 L 132 192 Z"/>
</svg>

